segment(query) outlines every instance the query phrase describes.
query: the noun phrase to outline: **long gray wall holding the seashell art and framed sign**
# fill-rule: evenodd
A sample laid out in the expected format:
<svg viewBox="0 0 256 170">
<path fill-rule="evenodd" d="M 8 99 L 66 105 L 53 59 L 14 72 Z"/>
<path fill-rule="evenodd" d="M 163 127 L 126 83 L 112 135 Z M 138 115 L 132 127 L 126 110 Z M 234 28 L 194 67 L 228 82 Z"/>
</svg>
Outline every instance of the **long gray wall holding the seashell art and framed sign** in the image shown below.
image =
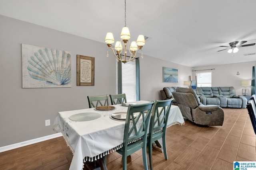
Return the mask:
<svg viewBox="0 0 256 170">
<path fill-rule="evenodd" d="M 107 46 L 0 15 L 0 147 L 54 134 L 58 111 L 88 108 L 87 96 L 116 93 L 116 59 Z M 86 28 L 84 28 L 86 31 Z M 71 88 L 22 88 L 21 44 L 70 51 Z M 76 86 L 76 55 L 95 57 L 95 86 Z M 162 67 L 178 69 L 178 83 L 162 82 Z M 183 86 L 191 68 L 144 55 L 140 60 L 141 100 L 161 99 L 164 86 Z M 51 126 L 44 121 L 50 119 Z"/>
</svg>

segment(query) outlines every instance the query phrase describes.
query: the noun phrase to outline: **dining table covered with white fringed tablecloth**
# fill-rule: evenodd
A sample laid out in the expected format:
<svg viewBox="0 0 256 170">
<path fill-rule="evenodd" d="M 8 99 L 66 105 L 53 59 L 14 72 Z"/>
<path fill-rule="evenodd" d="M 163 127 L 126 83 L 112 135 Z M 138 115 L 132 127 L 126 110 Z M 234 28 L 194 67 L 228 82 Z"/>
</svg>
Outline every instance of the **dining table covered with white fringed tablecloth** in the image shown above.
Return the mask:
<svg viewBox="0 0 256 170">
<path fill-rule="evenodd" d="M 133 104 L 147 102 L 140 100 Z M 112 114 L 126 113 L 128 104 L 96 108 L 60 111 L 54 120 L 53 130 L 62 133 L 73 153 L 70 170 L 82 170 L 86 161 L 102 159 L 122 148 L 125 120 L 115 119 Z M 167 127 L 175 124 L 183 125 L 184 119 L 179 107 L 172 105 Z"/>
</svg>

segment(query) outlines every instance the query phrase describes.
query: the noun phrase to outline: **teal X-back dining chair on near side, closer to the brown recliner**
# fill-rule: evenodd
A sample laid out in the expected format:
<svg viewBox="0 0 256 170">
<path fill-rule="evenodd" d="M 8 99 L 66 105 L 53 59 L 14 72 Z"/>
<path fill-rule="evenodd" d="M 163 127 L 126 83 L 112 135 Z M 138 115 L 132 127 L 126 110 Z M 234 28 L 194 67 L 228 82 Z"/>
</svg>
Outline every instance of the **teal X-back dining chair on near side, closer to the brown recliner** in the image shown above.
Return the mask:
<svg viewBox="0 0 256 170">
<path fill-rule="evenodd" d="M 148 132 L 148 157 L 150 169 L 153 170 L 152 165 L 152 144 L 158 139 L 162 139 L 162 148 L 164 150 L 164 158 L 167 160 L 166 152 L 166 125 L 174 98 L 169 100 L 156 100 L 150 118 L 149 132 Z"/>
</svg>

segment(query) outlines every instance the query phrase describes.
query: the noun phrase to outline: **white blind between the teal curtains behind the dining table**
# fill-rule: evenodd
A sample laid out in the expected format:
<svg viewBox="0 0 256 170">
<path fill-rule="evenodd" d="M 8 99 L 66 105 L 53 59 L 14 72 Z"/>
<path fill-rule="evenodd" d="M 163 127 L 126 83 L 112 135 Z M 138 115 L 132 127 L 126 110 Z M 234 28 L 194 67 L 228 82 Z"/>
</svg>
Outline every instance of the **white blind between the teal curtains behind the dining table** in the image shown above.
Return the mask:
<svg viewBox="0 0 256 170">
<path fill-rule="evenodd" d="M 127 102 L 136 101 L 136 63 L 133 61 L 122 63 L 122 93 Z"/>
</svg>

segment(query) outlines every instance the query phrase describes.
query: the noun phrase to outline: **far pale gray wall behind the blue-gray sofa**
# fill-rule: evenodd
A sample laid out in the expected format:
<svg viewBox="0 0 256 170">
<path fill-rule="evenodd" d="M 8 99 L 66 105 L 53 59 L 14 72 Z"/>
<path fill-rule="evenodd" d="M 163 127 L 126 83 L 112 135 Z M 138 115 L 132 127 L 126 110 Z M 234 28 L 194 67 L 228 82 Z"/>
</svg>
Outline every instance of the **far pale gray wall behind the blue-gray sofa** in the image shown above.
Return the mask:
<svg viewBox="0 0 256 170">
<path fill-rule="evenodd" d="M 227 57 L 230 57 L 227 55 Z M 212 71 L 212 87 L 218 86 L 233 86 L 236 90 L 236 95 L 242 95 L 241 86 L 242 80 L 252 80 L 252 66 L 256 66 L 256 61 L 244 62 L 244 63 L 234 63 L 234 64 L 221 64 L 217 66 L 204 66 L 195 67 L 193 70 L 204 70 L 212 69 L 215 70 L 204 70 L 196 72 L 207 72 Z M 195 80 L 196 72 L 193 71 L 193 80 Z M 239 72 L 239 75 L 236 75 Z M 251 86 L 248 86 L 249 94 L 251 94 Z"/>
</svg>

